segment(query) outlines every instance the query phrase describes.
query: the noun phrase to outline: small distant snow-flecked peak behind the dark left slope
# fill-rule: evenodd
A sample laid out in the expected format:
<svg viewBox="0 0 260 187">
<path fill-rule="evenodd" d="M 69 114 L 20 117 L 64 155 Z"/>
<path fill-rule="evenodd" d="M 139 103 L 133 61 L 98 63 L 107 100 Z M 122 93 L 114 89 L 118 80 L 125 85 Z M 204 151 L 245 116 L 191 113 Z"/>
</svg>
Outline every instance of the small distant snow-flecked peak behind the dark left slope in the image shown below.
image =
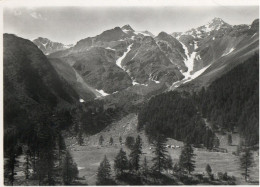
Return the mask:
<svg viewBox="0 0 260 187">
<path fill-rule="evenodd" d="M 64 45 L 42 37 L 33 40 L 33 43 L 46 55 L 73 47 L 73 45 Z"/>
</svg>

